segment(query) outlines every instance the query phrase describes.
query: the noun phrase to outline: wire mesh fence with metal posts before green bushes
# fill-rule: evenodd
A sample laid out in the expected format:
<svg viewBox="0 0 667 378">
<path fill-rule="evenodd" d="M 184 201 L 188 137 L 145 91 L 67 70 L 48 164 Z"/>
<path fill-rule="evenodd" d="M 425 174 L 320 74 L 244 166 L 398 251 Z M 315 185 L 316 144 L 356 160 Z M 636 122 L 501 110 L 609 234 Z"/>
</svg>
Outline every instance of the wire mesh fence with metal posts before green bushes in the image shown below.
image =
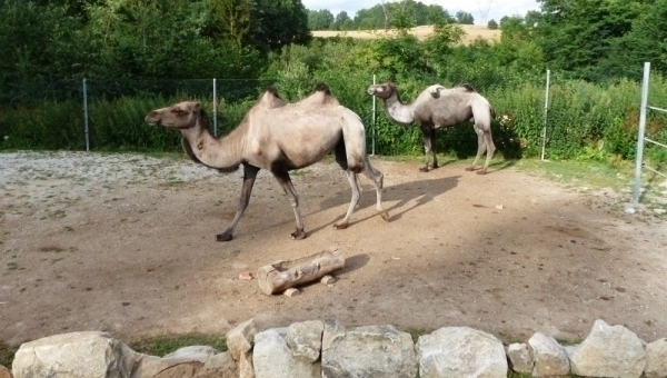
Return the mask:
<svg viewBox="0 0 667 378">
<path fill-rule="evenodd" d="M 368 151 L 378 155 L 420 155 L 419 128 L 396 126 L 381 101 L 366 93 L 368 73 L 323 77 L 342 105 L 367 127 Z M 667 103 L 665 80 L 656 77 L 651 96 Z M 180 148 L 180 136 L 149 127 L 146 115 L 181 100 L 199 101 L 212 118 L 211 132 L 229 132 L 242 120 L 267 86 L 288 101 L 308 94 L 319 81 L 307 72 L 276 79 L 126 80 L 89 79 L 20 82 L 0 88 L 0 149 L 165 150 Z M 381 74 L 377 82 L 388 81 Z M 604 153 L 634 159 L 637 140 L 639 81 L 609 84 L 567 78 L 561 72 L 517 77 L 502 70 L 452 70 L 446 78 L 397 80 L 404 102 L 427 86 L 471 84 L 494 106 L 494 140 L 506 158 L 565 159 Z M 86 94 L 86 96 L 84 96 Z M 547 94 L 549 96 L 548 101 Z M 548 112 L 547 112 L 548 111 Z M 545 118 L 547 116 L 547 118 Z M 545 122 L 546 120 L 546 122 Z M 667 142 L 664 119 L 649 119 L 654 140 Z M 545 133 L 546 129 L 546 133 Z M 437 150 L 472 156 L 477 138 L 470 126 L 437 132 Z M 584 152 L 583 152 L 584 151 Z"/>
</svg>

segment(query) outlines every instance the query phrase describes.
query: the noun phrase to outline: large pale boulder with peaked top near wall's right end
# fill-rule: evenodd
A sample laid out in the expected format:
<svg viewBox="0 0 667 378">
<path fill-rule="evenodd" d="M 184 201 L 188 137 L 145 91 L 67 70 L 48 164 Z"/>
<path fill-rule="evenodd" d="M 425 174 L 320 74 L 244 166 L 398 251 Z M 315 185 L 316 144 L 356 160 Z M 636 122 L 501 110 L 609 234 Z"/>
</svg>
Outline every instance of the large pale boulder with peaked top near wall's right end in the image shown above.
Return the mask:
<svg viewBox="0 0 667 378">
<path fill-rule="evenodd" d="M 579 376 L 639 378 L 646 352 L 635 332 L 596 320 L 588 337 L 569 355 L 571 372 Z"/>
</svg>

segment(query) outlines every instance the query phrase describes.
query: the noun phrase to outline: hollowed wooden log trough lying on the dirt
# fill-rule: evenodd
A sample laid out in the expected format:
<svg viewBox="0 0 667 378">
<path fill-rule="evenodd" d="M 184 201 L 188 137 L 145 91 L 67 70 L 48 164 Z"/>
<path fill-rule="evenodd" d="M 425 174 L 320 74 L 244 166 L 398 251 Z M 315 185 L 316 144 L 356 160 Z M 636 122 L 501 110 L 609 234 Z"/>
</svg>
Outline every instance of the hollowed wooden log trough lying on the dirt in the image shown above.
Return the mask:
<svg viewBox="0 0 667 378">
<path fill-rule="evenodd" d="M 257 270 L 259 288 L 267 295 L 311 282 L 345 267 L 345 257 L 337 249 L 326 250 L 293 261 L 276 261 Z"/>
</svg>

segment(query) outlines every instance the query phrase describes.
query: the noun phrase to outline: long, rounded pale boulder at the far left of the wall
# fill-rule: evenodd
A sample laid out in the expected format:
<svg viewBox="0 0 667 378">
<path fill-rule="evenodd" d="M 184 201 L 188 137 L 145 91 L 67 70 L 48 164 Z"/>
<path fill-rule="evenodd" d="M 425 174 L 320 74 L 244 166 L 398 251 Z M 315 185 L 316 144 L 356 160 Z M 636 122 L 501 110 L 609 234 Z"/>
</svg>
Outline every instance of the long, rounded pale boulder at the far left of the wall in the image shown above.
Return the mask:
<svg viewBox="0 0 667 378">
<path fill-rule="evenodd" d="M 21 345 L 14 356 L 14 378 L 129 377 L 140 355 L 104 332 L 72 332 Z"/>
</svg>

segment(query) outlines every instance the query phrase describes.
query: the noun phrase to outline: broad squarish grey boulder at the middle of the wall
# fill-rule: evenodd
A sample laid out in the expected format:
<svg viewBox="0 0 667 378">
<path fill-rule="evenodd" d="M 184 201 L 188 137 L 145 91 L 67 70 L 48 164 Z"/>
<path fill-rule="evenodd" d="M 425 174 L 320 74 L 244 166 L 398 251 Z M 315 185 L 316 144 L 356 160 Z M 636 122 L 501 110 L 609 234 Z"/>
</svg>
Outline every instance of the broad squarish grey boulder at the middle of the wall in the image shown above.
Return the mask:
<svg viewBox="0 0 667 378">
<path fill-rule="evenodd" d="M 322 335 L 323 378 L 415 378 L 415 344 L 394 326 L 369 326 L 345 330 L 336 321 L 325 322 Z"/>
</svg>

